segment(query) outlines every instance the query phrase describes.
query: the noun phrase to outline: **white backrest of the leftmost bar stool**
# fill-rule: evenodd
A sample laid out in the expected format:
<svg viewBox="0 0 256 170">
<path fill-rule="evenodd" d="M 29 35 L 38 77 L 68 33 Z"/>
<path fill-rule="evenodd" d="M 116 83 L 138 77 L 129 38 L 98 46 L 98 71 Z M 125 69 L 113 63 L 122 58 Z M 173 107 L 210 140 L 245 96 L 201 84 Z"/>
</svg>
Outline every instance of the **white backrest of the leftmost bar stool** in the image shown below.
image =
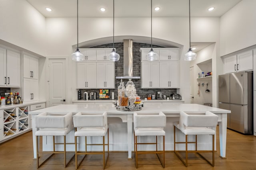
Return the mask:
<svg viewBox="0 0 256 170">
<path fill-rule="evenodd" d="M 35 116 L 37 128 L 68 128 L 72 126 L 72 113 L 40 113 Z"/>
</svg>

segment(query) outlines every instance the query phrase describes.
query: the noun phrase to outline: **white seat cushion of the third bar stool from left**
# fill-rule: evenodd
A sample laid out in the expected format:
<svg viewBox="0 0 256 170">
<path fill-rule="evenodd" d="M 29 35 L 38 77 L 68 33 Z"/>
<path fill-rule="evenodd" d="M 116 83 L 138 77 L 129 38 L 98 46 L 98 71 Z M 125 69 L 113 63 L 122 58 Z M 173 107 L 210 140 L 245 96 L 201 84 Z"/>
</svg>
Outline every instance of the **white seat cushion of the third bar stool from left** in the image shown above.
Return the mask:
<svg viewBox="0 0 256 170">
<path fill-rule="evenodd" d="M 165 136 L 161 127 L 139 127 L 134 130 L 135 136 Z"/>
</svg>

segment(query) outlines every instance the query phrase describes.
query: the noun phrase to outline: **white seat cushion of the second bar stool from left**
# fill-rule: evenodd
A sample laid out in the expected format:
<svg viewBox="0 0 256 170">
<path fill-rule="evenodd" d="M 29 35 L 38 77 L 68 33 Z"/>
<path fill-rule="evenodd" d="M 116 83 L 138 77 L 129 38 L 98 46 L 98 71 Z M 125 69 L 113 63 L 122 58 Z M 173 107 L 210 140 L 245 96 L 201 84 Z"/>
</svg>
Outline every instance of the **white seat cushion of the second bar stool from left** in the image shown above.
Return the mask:
<svg viewBox="0 0 256 170">
<path fill-rule="evenodd" d="M 75 136 L 105 136 L 108 131 L 106 127 L 81 127 L 75 132 Z"/>
</svg>

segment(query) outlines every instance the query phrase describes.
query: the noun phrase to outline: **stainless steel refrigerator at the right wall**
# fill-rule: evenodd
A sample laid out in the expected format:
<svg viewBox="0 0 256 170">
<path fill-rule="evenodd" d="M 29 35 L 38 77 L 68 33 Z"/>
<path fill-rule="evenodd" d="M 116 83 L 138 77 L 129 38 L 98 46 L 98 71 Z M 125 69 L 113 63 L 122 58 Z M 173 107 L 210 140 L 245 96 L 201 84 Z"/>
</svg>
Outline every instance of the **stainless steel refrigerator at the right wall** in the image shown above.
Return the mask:
<svg viewBox="0 0 256 170">
<path fill-rule="evenodd" d="M 231 110 L 229 129 L 253 133 L 253 73 L 219 75 L 219 108 Z"/>
</svg>

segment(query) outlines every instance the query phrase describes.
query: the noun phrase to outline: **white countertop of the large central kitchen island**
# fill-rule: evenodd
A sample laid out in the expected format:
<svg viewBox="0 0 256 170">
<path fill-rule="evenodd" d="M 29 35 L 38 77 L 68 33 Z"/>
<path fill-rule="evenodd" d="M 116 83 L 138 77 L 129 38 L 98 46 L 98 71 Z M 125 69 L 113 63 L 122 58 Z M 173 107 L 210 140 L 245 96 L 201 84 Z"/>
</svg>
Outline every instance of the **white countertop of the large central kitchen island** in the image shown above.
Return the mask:
<svg viewBox="0 0 256 170">
<path fill-rule="evenodd" d="M 38 114 L 42 112 L 90 112 L 97 113 L 106 111 L 110 114 L 133 114 L 134 111 L 118 111 L 114 104 L 73 104 L 73 105 L 57 105 L 47 107 L 44 109 L 38 109 L 29 111 L 29 114 Z M 211 111 L 212 113 L 231 113 L 230 110 L 219 109 L 216 107 L 209 107 L 199 104 L 159 104 L 153 106 L 142 107 L 142 110 L 137 112 L 156 112 L 162 111 L 164 113 L 180 113 L 185 111 L 187 113 L 205 113 L 205 111 Z"/>
</svg>

